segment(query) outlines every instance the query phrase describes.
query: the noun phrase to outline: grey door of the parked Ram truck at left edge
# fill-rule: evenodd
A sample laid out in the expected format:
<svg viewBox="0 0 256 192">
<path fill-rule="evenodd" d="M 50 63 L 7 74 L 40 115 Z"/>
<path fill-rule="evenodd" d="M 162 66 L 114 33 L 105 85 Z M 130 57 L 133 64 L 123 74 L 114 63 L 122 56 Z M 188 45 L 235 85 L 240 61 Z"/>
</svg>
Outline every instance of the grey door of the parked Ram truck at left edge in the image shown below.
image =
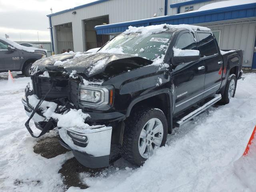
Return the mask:
<svg viewBox="0 0 256 192">
<path fill-rule="evenodd" d="M 0 71 L 15 70 L 15 66 L 20 66 L 19 52 L 9 51 L 8 44 L 0 41 Z"/>
</svg>

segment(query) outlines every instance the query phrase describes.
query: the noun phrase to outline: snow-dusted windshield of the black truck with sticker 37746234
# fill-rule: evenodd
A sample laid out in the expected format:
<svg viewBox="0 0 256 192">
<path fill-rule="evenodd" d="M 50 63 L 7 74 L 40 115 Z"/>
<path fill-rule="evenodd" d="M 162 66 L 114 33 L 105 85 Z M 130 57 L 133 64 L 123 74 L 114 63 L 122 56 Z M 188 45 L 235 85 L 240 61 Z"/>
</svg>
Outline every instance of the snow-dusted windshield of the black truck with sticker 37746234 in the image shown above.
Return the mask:
<svg viewBox="0 0 256 192">
<path fill-rule="evenodd" d="M 131 54 L 154 60 L 164 57 L 172 33 L 120 34 L 108 42 L 99 52 Z"/>
</svg>

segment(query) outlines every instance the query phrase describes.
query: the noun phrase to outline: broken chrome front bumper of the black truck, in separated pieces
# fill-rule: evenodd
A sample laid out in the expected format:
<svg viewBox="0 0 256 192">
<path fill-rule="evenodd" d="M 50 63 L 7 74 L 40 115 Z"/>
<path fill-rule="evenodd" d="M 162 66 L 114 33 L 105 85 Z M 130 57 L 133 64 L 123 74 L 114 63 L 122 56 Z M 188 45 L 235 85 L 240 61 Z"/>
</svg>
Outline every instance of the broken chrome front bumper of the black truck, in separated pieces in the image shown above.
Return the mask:
<svg viewBox="0 0 256 192">
<path fill-rule="evenodd" d="M 27 90 L 27 89 L 26 89 Z M 26 114 L 30 117 L 34 108 L 28 103 L 27 91 L 22 98 Z M 36 112 L 32 118 L 36 124 L 45 125 L 48 121 Z M 43 127 L 42 127 L 43 129 Z M 100 168 L 109 165 L 112 127 L 92 126 L 91 129 L 58 128 L 60 144 L 72 150 L 75 158 L 89 168 Z"/>
</svg>

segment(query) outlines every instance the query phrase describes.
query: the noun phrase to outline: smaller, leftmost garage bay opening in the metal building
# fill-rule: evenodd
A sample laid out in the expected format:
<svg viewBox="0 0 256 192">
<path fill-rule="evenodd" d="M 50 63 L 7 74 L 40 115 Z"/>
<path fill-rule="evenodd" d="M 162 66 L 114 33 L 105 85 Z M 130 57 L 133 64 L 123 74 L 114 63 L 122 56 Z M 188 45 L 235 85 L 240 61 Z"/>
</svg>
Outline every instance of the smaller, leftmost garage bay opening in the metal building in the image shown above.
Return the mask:
<svg viewBox="0 0 256 192">
<path fill-rule="evenodd" d="M 66 23 L 56 26 L 57 51 L 58 54 L 68 51 L 74 51 L 72 23 Z"/>
</svg>

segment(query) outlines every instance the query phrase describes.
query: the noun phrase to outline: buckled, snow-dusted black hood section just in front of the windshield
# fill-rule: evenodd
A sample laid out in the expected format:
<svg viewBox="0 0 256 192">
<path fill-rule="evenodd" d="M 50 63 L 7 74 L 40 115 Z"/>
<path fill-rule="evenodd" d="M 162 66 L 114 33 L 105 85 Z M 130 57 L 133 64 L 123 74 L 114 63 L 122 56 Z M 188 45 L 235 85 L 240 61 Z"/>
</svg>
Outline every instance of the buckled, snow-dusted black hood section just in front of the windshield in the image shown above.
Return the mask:
<svg viewBox="0 0 256 192">
<path fill-rule="evenodd" d="M 76 70 L 77 74 L 84 73 L 91 77 L 104 72 L 109 66 L 112 66 L 108 68 L 111 71 L 109 74 L 118 74 L 122 70 L 132 70 L 149 64 L 152 64 L 151 60 L 134 55 L 94 52 L 73 58 L 59 68 L 64 68 L 68 74 Z"/>
</svg>

